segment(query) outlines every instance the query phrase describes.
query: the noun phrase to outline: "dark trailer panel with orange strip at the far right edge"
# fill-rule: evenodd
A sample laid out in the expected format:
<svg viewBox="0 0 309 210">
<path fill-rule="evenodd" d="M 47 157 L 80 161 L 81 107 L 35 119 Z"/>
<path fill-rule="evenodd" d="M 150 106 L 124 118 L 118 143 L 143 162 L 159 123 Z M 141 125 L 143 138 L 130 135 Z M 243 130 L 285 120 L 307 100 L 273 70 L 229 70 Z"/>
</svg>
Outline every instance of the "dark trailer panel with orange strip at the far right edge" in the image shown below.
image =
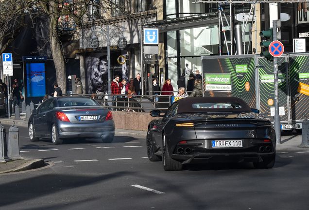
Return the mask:
<svg viewBox="0 0 309 210">
<path fill-rule="evenodd" d="M 309 117 L 309 56 L 290 56 L 292 120 Z"/>
</svg>

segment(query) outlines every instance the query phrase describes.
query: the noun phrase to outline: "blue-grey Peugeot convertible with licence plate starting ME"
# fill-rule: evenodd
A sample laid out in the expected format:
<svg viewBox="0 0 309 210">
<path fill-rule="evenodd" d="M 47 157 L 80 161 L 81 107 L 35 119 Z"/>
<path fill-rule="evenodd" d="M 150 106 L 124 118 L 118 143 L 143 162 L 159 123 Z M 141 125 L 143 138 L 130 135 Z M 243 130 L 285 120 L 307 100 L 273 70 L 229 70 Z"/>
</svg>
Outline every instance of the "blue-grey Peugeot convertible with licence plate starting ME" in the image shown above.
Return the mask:
<svg viewBox="0 0 309 210">
<path fill-rule="evenodd" d="M 50 98 L 32 111 L 28 128 L 31 141 L 51 139 L 53 144 L 68 138 L 112 142 L 115 135 L 111 111 L 90 97 Z"/>
</svg>

